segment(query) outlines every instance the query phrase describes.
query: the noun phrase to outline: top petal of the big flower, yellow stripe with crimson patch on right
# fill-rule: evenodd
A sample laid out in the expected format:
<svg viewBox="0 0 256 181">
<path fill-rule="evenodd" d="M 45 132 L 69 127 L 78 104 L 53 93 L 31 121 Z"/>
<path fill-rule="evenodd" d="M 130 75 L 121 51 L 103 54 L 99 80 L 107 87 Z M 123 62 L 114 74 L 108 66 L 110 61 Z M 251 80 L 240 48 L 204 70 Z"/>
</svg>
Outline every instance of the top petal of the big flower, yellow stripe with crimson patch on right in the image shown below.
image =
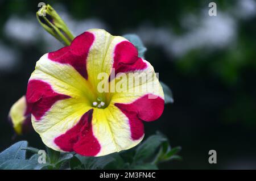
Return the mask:
<svg viewBox="0 0 256 181">
<path fill-rule="evenodd" d="M 107 73 L 110 76 L 112 69 L 115 74 L 146 68 L 146 63 L 138 58 L 138 50 L 122 36 L 112 36 L 110 33 L 101 29 L 91 29 L 94 41 L 90 47 L 86 66 L 88 77 L 94 90 L 100 80 L 98 74 Z"/>
</svg>

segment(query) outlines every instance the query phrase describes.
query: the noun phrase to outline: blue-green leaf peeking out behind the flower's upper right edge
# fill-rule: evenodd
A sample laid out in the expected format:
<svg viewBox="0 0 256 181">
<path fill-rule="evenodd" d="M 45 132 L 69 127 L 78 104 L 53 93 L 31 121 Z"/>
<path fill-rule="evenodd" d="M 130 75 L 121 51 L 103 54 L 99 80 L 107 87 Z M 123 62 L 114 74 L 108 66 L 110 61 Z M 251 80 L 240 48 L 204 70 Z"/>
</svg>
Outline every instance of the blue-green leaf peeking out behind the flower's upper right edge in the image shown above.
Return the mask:
<svg viewBox="0 0 256 181">
<path fill-rule="evenodd" d="M 138 50 L 138 56 L 144 58 L 144 53 L 146 52 L 147 48 L 144 47 L 141 39 L 138 35 L 135 34 L 126 34 L 123 35 L 127 40 L 129 40 Z"/>
</svg>

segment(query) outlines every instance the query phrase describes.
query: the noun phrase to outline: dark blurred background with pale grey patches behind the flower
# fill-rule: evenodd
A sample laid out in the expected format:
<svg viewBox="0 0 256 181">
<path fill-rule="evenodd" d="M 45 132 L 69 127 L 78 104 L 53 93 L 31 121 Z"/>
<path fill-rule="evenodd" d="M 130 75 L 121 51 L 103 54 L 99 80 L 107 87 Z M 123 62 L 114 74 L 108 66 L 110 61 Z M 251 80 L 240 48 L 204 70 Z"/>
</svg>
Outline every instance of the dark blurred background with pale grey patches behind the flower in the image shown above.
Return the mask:
<svg viewBox="0 0 256 181">
<path fill-rule="evenodd" d="M 25 92 L 35 63 L 62 47 L 40 27 L 38 3 L 49 3 L 74 35 L 104 28 L 137 33 L 174 104 L 146 125 L 182 146 L 183 161 L 161 169 L 256 169 L 256 1 L 10 1 L 0 0 L 0 150 L 18 140 L 44 148 L 36 133 L 13 137 L 10 107 Z M 217 164 L 208 151 L 217 151 Z"/>
</svg>

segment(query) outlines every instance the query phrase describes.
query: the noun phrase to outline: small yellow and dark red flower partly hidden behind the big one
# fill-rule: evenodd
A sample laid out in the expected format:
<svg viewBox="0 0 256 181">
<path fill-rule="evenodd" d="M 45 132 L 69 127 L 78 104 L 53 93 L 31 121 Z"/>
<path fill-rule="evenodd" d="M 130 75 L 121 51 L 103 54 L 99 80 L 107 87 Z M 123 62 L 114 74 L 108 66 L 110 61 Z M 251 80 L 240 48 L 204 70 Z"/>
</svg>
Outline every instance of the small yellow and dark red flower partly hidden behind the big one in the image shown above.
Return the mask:
<svg viewBox="0 0 256 181">
<path fill-rule="evenodd" d="M 14 131 L 18 135 L 32 130 L 31 113 L 25 96 L 22 96 L 13 104 L 9 112 L 9 119 L 13 124 Z"/>
</svg>

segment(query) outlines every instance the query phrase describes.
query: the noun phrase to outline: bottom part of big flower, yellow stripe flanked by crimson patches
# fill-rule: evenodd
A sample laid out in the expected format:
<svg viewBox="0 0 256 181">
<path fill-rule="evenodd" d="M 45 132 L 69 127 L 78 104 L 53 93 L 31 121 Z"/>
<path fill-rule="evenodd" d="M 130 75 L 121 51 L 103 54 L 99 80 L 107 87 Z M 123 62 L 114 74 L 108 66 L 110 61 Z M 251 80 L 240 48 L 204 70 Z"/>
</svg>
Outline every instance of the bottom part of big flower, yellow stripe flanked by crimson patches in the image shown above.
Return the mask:
<svg viewBox="0 0 256 181">
<path fill-rule="evenodd" d="M 76 151 L 84 156 L 102 156 L 130 149 L 144 136 L 142 120 L 134 114 L 129 120 L 114 105 L 89 110 L 72 128 L 54 142 L 63 151 Z"/>
</svg>

